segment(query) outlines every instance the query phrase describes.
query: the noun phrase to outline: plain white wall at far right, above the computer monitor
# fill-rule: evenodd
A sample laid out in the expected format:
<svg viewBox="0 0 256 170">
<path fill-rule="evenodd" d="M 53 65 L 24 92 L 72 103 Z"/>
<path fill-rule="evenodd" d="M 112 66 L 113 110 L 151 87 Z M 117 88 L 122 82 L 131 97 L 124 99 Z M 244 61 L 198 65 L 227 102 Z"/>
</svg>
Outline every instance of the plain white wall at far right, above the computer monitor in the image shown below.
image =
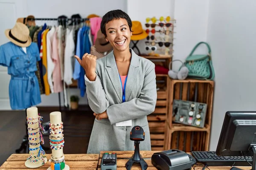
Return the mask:
<svg viewBox="0 0 256 170">
<path fill-rule="evenodd" d="M 226 111 L 256 111 L 256 1 L 212 0 L 207 41 L 215 67 L 210 150 L 216 150 Z"/>
</svg>

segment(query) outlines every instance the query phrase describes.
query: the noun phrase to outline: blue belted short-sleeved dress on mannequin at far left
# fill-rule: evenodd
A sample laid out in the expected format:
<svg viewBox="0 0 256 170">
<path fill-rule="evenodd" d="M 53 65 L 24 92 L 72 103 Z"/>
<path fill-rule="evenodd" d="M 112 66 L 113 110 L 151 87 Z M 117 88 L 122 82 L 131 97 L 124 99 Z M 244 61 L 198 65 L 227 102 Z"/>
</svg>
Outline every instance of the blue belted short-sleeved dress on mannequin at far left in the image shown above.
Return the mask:
<svg viewBox="0 0 256 170">
<path fill-rule="evenodd" d="M 9 83 L 9 98 L 12 110 L 22 110 L 41 103 L 41 94 L 36 62 L 40 60 L 38 46 L 35 42 L 22 47 L 12 42 L 0 46 L 0 65 L 8 67 L 11 75 Z"/>
</svg>

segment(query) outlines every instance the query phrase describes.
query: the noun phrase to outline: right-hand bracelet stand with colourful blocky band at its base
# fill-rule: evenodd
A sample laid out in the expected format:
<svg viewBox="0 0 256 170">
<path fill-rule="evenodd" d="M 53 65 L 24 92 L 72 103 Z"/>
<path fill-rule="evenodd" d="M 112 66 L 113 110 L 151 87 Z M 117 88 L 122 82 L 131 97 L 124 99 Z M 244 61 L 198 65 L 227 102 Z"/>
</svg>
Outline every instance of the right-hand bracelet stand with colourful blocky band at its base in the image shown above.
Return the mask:
<svg viewBox="0 0 256 170">
<path fill-rule="evenodd" d="M 51 162 L 51 166 L 47 170 L 69 170 L 70 167 L 65 164 L 65 157 L 63 153 L 64 135 L 62 134 L 63 122 L 61 121 L 61 112 L 55 111 L 50 113 L 49 130 L 52 156 L 49 160 Z"/>
</svg>

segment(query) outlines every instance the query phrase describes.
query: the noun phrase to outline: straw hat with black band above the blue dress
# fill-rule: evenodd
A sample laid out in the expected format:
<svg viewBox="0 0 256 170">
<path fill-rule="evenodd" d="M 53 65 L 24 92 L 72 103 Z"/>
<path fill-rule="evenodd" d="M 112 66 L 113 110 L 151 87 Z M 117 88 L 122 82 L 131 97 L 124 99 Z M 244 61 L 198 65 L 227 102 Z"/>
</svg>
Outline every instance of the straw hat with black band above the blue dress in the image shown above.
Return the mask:
<svg viewBox="0 0 256 170">
<path fill-rule="evenodd" d="M 15 23 L 12 29 L 6 29 L 6 37 L 20 47 L 28 47 L 32 40 L 29 36 L 29 28 L 23 23 Z"/>
</svg>

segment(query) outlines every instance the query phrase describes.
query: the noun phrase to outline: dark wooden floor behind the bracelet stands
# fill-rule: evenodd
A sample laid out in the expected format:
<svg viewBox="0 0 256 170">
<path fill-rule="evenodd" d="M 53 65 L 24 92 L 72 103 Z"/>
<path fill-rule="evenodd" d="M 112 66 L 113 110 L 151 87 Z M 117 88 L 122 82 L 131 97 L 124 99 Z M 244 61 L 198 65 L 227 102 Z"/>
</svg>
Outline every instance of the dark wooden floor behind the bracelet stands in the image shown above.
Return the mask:
<svg viewBox="0 0 256 170">
<path fill-rule="evenodd" d="M 49 113 L 59 111 L 58 109 L 40 109 L 38 112 L 43 116 L 43 125 L 49 123 Z M 65 146 L 63 152 L 86 153 L 93 127 L 95 116 L 90 108 L 83 108 L 79 111 L 61 111 L 61 118 L 64 126 Z M 47 130 L 47 129 L 46 129 Z M 0 111 L 0 165 L 20 148 L 23 137 L 26 134 L 26 112 L 25 111 Z M 44 135 L 44 147 L 49 148 L 49 133 Z M 51 150 L 45 150 L 51 153 Z"/>
</svg>

